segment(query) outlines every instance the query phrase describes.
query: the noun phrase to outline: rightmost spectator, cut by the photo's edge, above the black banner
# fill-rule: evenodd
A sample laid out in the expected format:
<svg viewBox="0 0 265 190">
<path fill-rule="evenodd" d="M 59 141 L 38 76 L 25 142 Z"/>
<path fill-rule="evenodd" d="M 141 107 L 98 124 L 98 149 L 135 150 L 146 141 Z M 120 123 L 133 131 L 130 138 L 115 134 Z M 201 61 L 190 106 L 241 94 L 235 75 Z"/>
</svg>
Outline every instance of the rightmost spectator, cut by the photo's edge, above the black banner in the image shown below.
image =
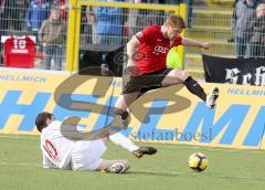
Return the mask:
<svg viewBox="0 0 265 190">
<path fill-rule="evenodd" d="M 265 3 L 257 6 L 256 17 L 251 38 L 251 57 L 265 57 Z"/>
</svg>

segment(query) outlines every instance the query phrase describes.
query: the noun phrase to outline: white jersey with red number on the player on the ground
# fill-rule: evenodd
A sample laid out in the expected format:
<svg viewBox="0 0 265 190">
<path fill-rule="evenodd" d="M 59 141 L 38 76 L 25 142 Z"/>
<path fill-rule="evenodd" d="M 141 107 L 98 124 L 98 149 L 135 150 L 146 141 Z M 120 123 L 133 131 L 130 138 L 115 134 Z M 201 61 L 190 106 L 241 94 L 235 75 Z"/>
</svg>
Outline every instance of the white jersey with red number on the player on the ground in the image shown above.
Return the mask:
<svg viewBox="0 0 265 190">
<path fill-rule="evenodd" d="M 71 168 L 71 151 L 75 141 L 62 135 L 61 125 L 62 122 L 54 120 L 42 130 L 41 149 L 44 168 Z"/>
</svg>

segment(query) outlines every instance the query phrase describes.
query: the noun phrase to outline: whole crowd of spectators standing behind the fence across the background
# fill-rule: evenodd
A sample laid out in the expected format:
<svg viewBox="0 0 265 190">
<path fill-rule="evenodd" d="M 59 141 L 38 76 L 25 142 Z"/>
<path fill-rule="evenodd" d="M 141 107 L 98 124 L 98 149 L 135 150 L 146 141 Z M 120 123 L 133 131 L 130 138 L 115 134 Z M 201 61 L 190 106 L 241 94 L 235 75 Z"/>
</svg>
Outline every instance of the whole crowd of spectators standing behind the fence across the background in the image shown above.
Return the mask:
<svg viewBox="0 0 265 190">
<path fill-rule="evenodd" d="M 102 1 L 178 4 L 184 0 Z M 50 70 L 54 59 L 55 70 L 62 70 L 67 10 L 68 0 L 0 0 L 0 36 L 35 35 L 38 51 L 44 53 L 43 67 Z M 146 25 L 162 24 L 166 17 L 165 11 L 82 7 L 81 42 L 125 44 L 126 38 Z M 235 0 L 232 30 L 237 57 L 265 57 L 264 0 Z"/>
</svg>

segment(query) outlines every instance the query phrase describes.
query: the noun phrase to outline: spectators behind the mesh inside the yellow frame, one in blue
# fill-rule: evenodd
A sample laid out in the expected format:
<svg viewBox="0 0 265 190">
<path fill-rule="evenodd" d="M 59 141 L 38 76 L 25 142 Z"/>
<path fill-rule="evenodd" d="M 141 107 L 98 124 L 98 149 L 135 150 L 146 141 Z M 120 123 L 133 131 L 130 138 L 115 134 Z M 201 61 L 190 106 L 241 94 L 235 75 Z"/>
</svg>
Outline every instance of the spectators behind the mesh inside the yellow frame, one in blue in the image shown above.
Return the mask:
<svg viewBox="0 0 265 190">
<path fill-rule="evenodd" d="M 109 2 L 121 2 L 123 0 L 107 0 Z M 131 3 L 158 3 L 178 4 L 181 0 L 125 0 Z M 162 11 L 152 10 L 126 10 L 119 8 L 82 8 L 82 33 L 92 33 L 89 43 L 123 44 L 120 36 L 131 36 L 146 25 L 161 24 Z M 165 15 L 166 18 L 166 15 Z M 88 23 L 88 24 L 86 24 Z"/>
</svg>

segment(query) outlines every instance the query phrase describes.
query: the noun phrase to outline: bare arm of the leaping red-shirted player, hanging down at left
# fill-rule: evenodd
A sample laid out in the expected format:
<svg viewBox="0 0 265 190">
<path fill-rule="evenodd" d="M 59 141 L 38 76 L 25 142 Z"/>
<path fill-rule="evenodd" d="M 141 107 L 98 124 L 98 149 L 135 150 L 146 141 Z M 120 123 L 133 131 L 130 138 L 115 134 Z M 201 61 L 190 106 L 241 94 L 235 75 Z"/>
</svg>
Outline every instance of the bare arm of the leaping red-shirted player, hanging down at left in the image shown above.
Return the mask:
<svg viewBox="0 0 265 190">
<path fill-rule="evenodd" d="M 138 75 L 139 74 L 139 68 L 137 67 L 137 65 L 135 63 L 138 46 L 139 46 L 139 41 L 137 40 L 136 36 L 132 36 L 131 40 L 127 43 L 128 63 L 127 63 L 127 66 L 126 66 L 126 71 L 130 75 Z"/>
</svg>

